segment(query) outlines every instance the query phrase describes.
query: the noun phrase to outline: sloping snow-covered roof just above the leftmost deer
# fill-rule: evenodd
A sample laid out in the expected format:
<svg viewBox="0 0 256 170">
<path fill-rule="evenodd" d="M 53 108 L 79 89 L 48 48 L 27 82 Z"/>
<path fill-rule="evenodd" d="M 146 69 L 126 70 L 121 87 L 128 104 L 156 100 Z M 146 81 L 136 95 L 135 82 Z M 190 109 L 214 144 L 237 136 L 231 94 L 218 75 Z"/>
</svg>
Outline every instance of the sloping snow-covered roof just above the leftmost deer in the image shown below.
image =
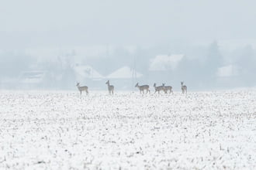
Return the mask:
<svg viewBox="0 0 256 170">
<path fill-rule="evenodd" d="M 89 79 L 102 79 L 102 76 L 98 71 L 94 70 L 92 66 L 88 65 L 77 65 L 74 66 L 74 72 L 77 73 L 79 76 Z"/>
</svg>

